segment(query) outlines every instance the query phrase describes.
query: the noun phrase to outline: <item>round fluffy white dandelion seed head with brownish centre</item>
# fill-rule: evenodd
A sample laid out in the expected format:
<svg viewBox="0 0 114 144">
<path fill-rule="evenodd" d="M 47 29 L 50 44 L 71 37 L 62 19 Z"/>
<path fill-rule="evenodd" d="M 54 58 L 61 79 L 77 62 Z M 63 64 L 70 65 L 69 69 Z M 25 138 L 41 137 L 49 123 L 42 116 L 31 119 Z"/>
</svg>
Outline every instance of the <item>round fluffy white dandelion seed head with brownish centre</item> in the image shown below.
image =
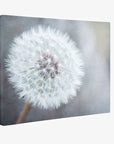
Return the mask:
<svg viewBox="0 0 114 144">
<path fill-rule="evenodd" d="M 67 104 L 77 95 L 84 75 L 75 42 L 67 34 L 42 26 L 14 39 L 6 70 L 19 98 L 28 103 L 25 111 L 31 105 L 55 109 Z"/>
</svg>

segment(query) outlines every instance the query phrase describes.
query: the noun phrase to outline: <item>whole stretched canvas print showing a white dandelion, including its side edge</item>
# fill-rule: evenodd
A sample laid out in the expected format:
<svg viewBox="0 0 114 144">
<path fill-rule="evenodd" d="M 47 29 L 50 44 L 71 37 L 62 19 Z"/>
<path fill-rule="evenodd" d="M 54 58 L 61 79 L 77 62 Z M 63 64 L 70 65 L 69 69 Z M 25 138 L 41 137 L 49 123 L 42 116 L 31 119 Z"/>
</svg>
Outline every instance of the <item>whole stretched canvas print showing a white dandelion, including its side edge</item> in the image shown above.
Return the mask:
<svg viewBox="0 0 114 144">
<path fill-rule="evenodd" d="M 0 124 L 110 112 L 110 23 L 0 16 Z"/>
</svg>

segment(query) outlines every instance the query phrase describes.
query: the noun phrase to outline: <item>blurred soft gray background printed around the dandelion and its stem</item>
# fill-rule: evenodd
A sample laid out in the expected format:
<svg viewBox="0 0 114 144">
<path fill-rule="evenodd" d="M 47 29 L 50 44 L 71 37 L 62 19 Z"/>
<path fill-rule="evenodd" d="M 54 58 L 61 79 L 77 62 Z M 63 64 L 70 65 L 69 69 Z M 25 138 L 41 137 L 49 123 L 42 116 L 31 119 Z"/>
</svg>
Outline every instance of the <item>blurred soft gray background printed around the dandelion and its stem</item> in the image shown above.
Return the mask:
<svg viewBox="0 0 114 144">
<path fill-rule="evenodd" d="M 32 108 L 27 122 L 47 119 L 81 116 L 110 111 L 110 52 L 109 23 L 80 22 L 28 17 L 0 17 L 1 45 L 1 124 L 15 124 L 24 107 L 23 100 L 7 80 L 4 59 L 7 57 L 9 45 L 16 36 L 37 25 L 49 25 L 62 32 L 67 32 L 77 43 L 85 62 L 85 77 L 78 96 L 67 105 L 57 110 Z M 1 36 L 2 35 L 2 36 Z"/>
</svg>

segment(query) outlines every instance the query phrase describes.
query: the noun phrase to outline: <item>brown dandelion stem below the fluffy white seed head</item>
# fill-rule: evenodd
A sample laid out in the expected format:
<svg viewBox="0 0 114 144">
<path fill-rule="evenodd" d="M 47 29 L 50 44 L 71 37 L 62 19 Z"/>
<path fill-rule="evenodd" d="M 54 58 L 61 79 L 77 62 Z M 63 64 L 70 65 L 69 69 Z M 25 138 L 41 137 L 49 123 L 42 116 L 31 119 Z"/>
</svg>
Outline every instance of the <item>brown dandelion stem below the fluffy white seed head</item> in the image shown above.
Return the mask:
<svg viewBox="0 0 114 144">
<path fill-rule="evenodd" d="M 31 107 L 32 107 L 32 103 L 27 102 L 27 104 L 25 105 L 23 111 L 21 112 L 21 114 L 20 114 L 20 116 L 19 116 L 19 118 L 18 118 L 18 120 L 16 122 L 17 124 L 25 122 L 26 117 L 27 117 Z"/>
</svg>

